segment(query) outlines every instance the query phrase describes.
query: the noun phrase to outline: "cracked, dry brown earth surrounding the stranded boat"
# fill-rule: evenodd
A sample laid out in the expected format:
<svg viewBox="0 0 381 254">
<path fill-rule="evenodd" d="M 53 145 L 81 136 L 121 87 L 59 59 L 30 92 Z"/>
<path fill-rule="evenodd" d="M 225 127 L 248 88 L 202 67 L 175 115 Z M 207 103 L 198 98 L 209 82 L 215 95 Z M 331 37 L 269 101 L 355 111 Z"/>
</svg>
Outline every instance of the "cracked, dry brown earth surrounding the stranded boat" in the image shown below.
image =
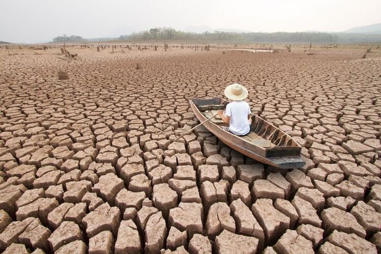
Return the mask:
<svg viewBox="0 0 381 254">
<path fill-rule="evenodd" d="M 379 250 L 380 49 L 148 48 L 69 47 L 71 61 L 0 48 L 5 253 Z M 303 146 L 303 168 L 260 164 L 203 128 L 171 145 L 158 131 L 197 125 L 188 100 L 233 82 Z"/>
</svg>

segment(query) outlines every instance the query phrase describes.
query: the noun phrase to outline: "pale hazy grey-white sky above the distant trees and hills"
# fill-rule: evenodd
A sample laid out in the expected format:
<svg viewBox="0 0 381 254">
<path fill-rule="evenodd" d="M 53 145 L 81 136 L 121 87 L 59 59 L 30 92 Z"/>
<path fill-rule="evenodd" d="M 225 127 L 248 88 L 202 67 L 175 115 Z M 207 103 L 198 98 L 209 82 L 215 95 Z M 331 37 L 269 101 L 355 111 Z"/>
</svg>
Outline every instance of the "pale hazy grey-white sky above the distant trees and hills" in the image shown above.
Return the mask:
<svg viewBox="0 0 381 254">
<path fill-rule="evenodd" d="M 381 0 L 0 0 L 0 41 L 118 37 L 152 27 L 343 31 L 381 22 Z"/>
</svg>

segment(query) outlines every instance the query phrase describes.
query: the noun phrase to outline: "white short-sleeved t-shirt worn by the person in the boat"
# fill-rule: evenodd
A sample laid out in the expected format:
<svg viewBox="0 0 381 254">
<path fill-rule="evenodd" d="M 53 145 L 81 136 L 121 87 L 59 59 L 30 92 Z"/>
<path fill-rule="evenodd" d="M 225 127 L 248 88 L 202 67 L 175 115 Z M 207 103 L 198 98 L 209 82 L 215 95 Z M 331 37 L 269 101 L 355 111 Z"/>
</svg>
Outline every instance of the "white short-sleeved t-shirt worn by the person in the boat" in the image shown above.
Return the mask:
<svg viewBox="0 0 381 254">
<path fill-rule="evenodd" d="M 235 135 L 246 135 L 250 132 L 250 123 L 247 119 L 250 106 L 245 101 L 233 101 L 226 106 L 226 116 L 230 116 L 229 130 Z"/>
</svg>

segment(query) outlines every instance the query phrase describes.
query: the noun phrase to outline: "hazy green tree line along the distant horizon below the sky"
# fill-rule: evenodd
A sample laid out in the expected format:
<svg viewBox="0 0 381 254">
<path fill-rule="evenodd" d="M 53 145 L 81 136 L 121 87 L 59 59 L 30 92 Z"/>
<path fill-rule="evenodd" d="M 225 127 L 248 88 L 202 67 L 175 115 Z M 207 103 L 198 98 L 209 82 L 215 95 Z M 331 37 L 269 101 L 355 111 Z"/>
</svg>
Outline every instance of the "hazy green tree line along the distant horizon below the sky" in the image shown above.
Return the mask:
<svg viewBox="0 0 381 254">
<path fill-rule="evenodd" d="M 105 38 L 105 40 L 112 38 Z M 312 33 L 312 32 L 276 32 L 276 33 L 235 33 L 214 31 L 209 33 L 190 33 L 168 27 L 151 28 L 131 35 L 122 35 L 113 40 L 147 41 L 147 40 L 185 40 L 185 41 L 234 41 L 234 42 L 306 42 L 306 43 L 366 43 L 381 42 L 381 35 L 376 34 L 344 34 L 344 33 Z M 80 36 L 58 36 L 54 42 L 93 41 Z"/>
</svg>

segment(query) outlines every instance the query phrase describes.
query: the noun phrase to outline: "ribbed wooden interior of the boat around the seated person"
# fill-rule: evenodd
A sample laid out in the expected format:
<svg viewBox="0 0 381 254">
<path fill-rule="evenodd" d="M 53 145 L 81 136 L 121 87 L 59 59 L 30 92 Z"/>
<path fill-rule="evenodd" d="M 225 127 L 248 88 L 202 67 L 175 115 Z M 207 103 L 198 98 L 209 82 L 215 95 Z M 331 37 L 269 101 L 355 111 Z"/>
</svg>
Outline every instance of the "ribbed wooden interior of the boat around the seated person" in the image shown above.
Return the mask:
<svg viewBox="0 0 381 254">
<path fill-rule="evenodd" d="M 196 103 L 195 105 L 206 118 L 210 118 L 215 115 L 219 109 L 224 110 L 228 104 L 226 101 L 223 104 L 209 105 L 205 103 L 203 103 L 203 105 L 197 105 Z M 240 138 L 263 148 L 276 148 L 285 146 L 298 147 L 298 144 L 290 136 L 286 135 L 274 125 L 268 123 L 256 115 L 252 115 L 251 119 L 251 132 L 245 136 L 239 136 Z M 221 128 L 228 125 L 218 115 L 213 117 L 210 121 L 220 126 Z"/>
</svg>

